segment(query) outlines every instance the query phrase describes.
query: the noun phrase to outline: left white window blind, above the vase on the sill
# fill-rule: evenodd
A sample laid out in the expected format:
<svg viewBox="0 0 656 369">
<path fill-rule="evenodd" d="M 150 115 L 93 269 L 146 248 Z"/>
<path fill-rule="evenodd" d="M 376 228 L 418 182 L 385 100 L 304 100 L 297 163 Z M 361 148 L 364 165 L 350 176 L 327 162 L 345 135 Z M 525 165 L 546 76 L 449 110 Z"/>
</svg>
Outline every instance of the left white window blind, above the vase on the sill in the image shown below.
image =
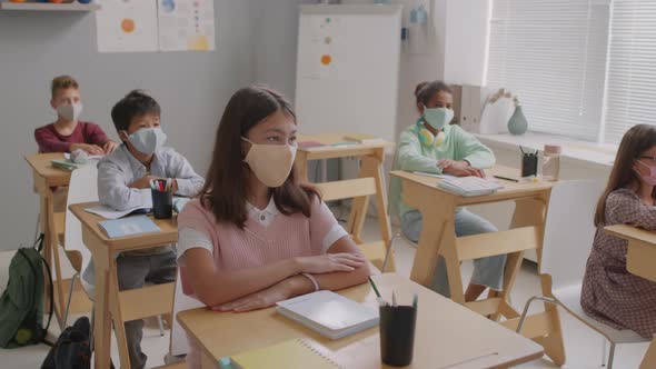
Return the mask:
<svg viewBox="0 0 656 369">
<path fill-rule="evenodd" d="M 609 0 L 494 0 L 487 86 L 518 96 L 531 131 L 597 140 L 608 20 Z"/>
</svg>

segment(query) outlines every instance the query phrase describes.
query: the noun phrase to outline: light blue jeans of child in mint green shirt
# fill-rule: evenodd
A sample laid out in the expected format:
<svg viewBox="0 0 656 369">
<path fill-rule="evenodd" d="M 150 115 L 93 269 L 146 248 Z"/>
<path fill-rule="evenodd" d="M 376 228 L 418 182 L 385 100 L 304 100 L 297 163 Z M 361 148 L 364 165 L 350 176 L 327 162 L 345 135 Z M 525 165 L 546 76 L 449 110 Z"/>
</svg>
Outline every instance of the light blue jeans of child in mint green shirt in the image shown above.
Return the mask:
<svg viewBox="0 0 656 369">
<path fill-rule="evenodd" d="M 421 233 L 423 217 L 417 210 L 411 210 L 401 216 L 401 231 L 413 242 L 419 241 Z M 456 236 L 474 236 L 480 233 L 496 232 L 498 229 L 484 218 L 463 209 L 456 212 Z M 504 286 L 504 271 L 506 268 L 506 256 L 480 258 L 474 260 L 474 275 L 470 282 L 486 286 L 493 290 L 501 290 Z M 440 256 L 437 261 L 435 275 L 433 276 L 431 289 L 441 296 L 450 297 L 446 262 Z"/>
</svg>

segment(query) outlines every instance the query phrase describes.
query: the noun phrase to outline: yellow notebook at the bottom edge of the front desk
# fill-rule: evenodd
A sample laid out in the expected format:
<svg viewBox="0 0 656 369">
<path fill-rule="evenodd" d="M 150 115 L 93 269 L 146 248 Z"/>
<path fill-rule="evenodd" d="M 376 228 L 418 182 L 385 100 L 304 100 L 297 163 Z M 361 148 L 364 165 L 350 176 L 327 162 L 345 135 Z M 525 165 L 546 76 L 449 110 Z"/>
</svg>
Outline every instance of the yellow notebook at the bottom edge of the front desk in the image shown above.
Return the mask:
<svg viewBox="0 0 656 369">
<path fill-rule="evenodd" d="M 240 352 L 230 358 L 233 369 L 336 369 L 344 368 L 330 351 L 310 339 L 292 339 L 265 348 Z"/>
</svg>

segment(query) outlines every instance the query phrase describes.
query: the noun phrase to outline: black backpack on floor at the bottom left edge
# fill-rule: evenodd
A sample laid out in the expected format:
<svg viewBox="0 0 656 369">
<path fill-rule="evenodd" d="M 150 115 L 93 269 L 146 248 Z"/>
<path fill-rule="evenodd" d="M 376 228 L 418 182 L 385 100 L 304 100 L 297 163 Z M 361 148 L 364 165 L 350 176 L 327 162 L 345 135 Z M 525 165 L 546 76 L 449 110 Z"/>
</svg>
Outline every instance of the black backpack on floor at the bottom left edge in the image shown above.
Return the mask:
<svg viewBox="0 0 656 369">
<path fill-rule="evenodd" d="M 91 325 L 87 317 L 79 318 L 71 327 L 67 327 L 52 345 L 41 369 L 91 368 L 90 331 Z"/>
</svg>

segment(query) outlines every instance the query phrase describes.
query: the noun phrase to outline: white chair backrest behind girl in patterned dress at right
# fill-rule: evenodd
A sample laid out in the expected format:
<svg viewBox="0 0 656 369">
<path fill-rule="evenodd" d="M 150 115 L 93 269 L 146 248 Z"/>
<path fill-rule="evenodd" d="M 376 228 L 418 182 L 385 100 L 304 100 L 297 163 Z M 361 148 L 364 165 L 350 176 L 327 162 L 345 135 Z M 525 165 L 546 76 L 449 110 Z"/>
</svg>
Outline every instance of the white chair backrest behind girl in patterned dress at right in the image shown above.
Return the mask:
<svg viewBox="0 0 656 369">
<path fill-rule="evenodd" d="M 551 276 L 553 290 L 582 283 L 603 190 L 603 183 L 589 180 L 564 181 L 551 189 L 540 273 Z"/>
</svg>

